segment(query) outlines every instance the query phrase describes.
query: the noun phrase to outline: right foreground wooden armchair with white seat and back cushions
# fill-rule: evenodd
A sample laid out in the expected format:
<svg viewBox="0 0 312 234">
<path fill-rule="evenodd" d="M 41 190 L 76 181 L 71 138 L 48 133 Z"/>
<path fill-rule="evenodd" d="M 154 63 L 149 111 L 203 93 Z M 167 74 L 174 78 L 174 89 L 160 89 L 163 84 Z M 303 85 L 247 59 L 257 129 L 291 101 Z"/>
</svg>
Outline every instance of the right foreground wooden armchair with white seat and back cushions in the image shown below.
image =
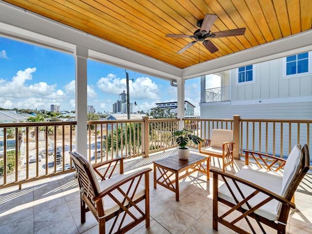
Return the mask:
<svg viewBox="0 0 312 234">
<path fill-rule="evenodd" d="M 291 201 L 292 197 L 310 169 L 308 146 L 304 145 L 302 150 L 300 148 L 301 145 L 295 145 L 287 160 L 246 151 L 246 157 L 252 154 L 261 168 L 245 166 L 234 176 L 211 169 L 210 172 L 214 174 L 213 229 L 217 231 L 218 223 L 221 223 L 236 233 L 249 234 L 246 227 L 241 228 L 237 224 L 244 219 L 252 233 L 265 234 L 265 229 L 269 226 L 275 229 L 277 234 L 285 234 L 290 208 L 295 208 L 295 204 Z M 263 161 L 260 159 L 262 162 L 259 162 L 259 158 Z M 272 160 L 268 163 L 270 159 Z M 282 168 L 283 172 L 279 172 Z M 218 176 L 225 182 L 220 188 Z M 229 210 L 219 215 L 218 202 L 229 206 Z M 241 215 L 231 218 L 231 214 L 235 211 L 239 211 Z M 255 219 L 255 226 L 249 217 Z"/>
</svg>

